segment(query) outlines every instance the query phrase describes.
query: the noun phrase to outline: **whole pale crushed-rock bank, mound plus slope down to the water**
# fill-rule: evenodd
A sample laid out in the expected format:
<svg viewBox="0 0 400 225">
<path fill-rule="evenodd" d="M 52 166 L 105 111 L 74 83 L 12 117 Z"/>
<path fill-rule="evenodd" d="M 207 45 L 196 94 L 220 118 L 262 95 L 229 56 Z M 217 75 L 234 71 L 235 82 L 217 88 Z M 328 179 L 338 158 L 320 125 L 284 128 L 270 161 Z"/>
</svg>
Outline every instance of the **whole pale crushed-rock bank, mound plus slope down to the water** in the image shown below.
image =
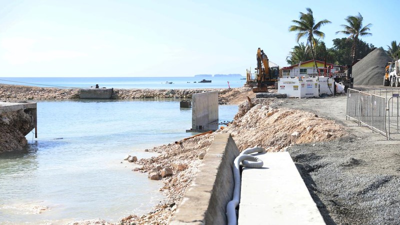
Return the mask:
<svg viewBox="0 0 400 225">
<path fill-rule="evenodd" d="M 139 159 L 136 171 L 152 174 L 171 169 L 171 176 L 162 178 L 159 175 L 164 183 L 160 191 L 165 193 L 167 200 L 147 215 L 129 216 L 120 223 L 168 224 L 217 133 L 230 133 L 240 151 L 256 145 L 268 151 L 283 151 L 294 143 L 330 141 L 345 134 L 344 128 L 334 121 L 308 112 L 276 108 L 277 99 L 252 98 L 250 101 L 251 104 L 245 101 L 240 105 L 235 120 L 223 130 L 145 150 L 160 155 Z"/>
</svg>

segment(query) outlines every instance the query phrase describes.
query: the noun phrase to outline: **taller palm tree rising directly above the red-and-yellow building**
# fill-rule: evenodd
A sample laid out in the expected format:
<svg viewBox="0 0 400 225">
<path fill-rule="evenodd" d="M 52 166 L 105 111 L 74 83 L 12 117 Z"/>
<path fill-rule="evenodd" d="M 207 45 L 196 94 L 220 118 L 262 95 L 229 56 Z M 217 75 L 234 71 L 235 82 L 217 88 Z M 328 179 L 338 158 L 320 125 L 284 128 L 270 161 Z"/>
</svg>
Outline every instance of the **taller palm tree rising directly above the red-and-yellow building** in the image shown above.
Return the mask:
<svg viewBox="0 0 400 225">
<path fill-rule="evenodd" d="M 315 61 L 314 56 L 314 46 L 315 46 L 315 38 L 314 35 L 320 38 L 324 38 L 325 34 L 319 31 L 319 28 L 326 23 L 330 23 L 329 20 L 323 19 L 317 23 L 315 23 L 314 16 L 312 15 L 311 8 L 305 8 L 307 13 L 300 12 L 299 20 L 291 20 L 295 25 L 291 25 L 289 27 L 289 31 L 296 31 L 297 33 L 297 42 L 301 37 L 307 38 L 306 45 L 310 47 L 312 60 L 314 61 L 315 68 L 318 68 Z"/>
</svg>

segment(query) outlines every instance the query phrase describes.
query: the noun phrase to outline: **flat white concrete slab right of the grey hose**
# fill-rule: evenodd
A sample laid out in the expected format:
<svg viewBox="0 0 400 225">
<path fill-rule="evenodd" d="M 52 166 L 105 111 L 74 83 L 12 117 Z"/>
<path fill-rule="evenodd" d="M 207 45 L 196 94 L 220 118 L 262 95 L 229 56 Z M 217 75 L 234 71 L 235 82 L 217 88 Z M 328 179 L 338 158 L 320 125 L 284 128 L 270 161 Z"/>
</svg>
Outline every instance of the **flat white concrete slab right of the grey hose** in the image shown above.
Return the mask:
<svg viewBox="0 0 400 225">
<path fill-rule="evenodd" d="M 238 225 L 325 224 L 289 153 L 257 157 L 262 168 L 242 171 Z"/>
</svg>

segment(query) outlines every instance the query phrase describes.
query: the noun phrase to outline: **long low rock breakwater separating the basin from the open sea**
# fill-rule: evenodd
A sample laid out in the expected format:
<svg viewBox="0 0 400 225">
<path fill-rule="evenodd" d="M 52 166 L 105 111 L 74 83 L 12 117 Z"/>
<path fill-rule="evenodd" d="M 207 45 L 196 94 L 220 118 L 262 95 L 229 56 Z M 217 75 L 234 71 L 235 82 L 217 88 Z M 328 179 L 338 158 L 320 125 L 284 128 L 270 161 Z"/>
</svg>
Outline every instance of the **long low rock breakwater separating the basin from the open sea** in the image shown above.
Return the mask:
<svg viewBox="0 0 400 225">
<path fill-rule="evenodd" d="M 220 94 L 233 89 L 114 89 L 113 99 L 191 98 L 192 94 L 217 90 Z M 0 84 L 1 100 L 79 99 L 79 89 L 45 88 Z M 224 102 L 221 102 L 222 104 Z"/>
</svg>

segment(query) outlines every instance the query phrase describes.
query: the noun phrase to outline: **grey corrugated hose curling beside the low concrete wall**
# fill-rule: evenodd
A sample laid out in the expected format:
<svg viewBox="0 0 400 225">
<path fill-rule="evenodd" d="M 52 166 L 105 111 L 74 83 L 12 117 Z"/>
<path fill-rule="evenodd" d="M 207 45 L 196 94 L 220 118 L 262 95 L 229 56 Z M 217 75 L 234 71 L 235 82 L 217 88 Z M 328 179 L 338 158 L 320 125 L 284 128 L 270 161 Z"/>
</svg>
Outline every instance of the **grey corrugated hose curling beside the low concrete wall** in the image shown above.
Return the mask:
<svg viewBox="0 0 400 225">
<path fill-rule="evenodd" d="M 244 167 L 249 168 L 261 168 L 263 162 L 255 156 L 250 156 L 251 153 L 265 153 L 265 150 L 261 147 L 253 147 L 246 149 L 238 155 L 233 161 L 233 179 L 234 179 L 234 189 L 233 189 L 233 199 L 226 205 L 226 218 L 228 225 L 237 225 L 236 207 L 239 205 L 240 201 L 240 163 Z"/>
</svg>

